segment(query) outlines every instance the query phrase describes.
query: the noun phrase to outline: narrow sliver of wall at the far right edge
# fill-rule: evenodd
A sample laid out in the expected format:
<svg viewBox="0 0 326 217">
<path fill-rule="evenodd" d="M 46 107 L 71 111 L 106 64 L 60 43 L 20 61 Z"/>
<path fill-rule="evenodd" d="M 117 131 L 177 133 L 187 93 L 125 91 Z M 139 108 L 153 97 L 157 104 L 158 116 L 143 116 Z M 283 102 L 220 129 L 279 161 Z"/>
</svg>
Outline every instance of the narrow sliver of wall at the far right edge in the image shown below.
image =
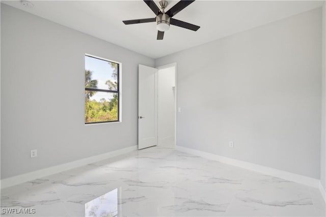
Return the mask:
<svg viewBox="0 0 326 217">
<path fill-rule="evenodd" d="M 326 178 L 325 178 L 325 143 L 326 143 L 326 134 L 325 134 L 325 124 L 326 124 L 326 106 L 325 106 L 325 98 L 326 98 L 326 89 L 325 89 L 325 83 L 326 83 L 326 72 L 325 72 L 325 62 L 326 62 L 326 56 L 325 56 L 325 29 L 326 29 L 326 5 L 325 2 L 322 6 L 322 93 L 321 93 L 321 146 L 320 146 L 320 182 L 324 189 L 326 189 Z"/>
</svg>

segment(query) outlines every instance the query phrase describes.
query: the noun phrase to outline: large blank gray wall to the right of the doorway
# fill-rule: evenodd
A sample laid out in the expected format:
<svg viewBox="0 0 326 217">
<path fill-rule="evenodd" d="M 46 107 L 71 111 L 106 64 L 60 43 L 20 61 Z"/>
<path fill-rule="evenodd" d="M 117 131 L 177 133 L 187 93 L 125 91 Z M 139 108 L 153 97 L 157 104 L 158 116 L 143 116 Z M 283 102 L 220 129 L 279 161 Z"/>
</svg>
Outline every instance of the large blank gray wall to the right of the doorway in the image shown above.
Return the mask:
<svg viewBox="0 0 326 217">
<path fill-rule="evenodd" d="M 177 62 L 177 145 L 319 179 L 320 26 L 318 8 L 157 59 Z"/>
</svg>

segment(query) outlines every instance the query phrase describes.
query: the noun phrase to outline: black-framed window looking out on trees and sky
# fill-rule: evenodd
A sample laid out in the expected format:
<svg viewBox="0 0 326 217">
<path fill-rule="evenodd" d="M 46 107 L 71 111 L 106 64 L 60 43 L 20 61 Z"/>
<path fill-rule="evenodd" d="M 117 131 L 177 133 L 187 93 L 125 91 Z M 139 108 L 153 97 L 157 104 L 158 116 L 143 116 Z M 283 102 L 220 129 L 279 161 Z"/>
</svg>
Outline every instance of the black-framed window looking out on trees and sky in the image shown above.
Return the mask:
<svg viewBox="0 0 326 217">
<path fill-rule="evenodd" d="M 119 121 L 119 68 L 85 55 L 85 124 Z"/>
</svg>

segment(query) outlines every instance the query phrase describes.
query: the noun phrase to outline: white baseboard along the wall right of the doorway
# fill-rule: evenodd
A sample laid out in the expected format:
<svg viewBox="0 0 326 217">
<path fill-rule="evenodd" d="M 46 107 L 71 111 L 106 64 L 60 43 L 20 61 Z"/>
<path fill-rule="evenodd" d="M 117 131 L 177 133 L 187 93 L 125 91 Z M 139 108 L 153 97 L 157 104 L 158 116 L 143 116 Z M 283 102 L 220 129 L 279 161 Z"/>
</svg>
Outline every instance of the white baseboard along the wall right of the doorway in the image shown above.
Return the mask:
<svg viewBox="0 0 326 217">
<path fill-rule="evenodd" d="M 220 161 L 225 164 L 233 165 L 236 167 L 241 167 L 241 168 L 244 168 L 247 170 L 256 171 L 256 172 L 267 174 L 270 176 L 276 176 L 276 177 L 279 177 L 282 179 L 286 179 L 286 180 L 294 181 L 297 183 L 309 185 L 311 187 L 319 188 L 319 183 L 320 183 L 319 179 L 311 178 L 308 176 L 290 173 L 287 171 L 278 170 L 278 169 L 274 169 L 274 168 L 270 168 L 270 167 L 260 166 L 257 164 L 252 164 L 250 162 L 232 159 L 232 158 L 220 156 L 217 154 L 211 154 L 211 153 L 204 152 L 204 151 L 198 151 L 198 150 L 191 149 L 191 148 L 185 148 L 182 146 L 176 146 L 176 150 L 186 152 L 189 154 L 198 155 L 198 156 L 201 156 L 201 157 L 204 157 L 207 159 L 211 159 L 211 160 Z"/>
</svg>

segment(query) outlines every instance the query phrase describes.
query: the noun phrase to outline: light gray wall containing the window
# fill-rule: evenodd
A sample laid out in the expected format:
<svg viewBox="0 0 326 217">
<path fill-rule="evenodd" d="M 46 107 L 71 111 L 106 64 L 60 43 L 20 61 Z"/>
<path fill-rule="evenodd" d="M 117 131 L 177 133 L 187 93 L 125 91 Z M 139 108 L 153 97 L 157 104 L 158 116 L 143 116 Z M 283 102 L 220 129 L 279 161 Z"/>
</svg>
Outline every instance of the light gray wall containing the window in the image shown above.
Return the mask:
<svg viewBox="0 0 326 217">
<path fill-rule="evenodd" d="M 85 126 L 85 53 L 122 63 L 122 123 Z M 1 63 L 1 178 L 137 145 L 153 59 L 2 4 Z"/>
</svg>

